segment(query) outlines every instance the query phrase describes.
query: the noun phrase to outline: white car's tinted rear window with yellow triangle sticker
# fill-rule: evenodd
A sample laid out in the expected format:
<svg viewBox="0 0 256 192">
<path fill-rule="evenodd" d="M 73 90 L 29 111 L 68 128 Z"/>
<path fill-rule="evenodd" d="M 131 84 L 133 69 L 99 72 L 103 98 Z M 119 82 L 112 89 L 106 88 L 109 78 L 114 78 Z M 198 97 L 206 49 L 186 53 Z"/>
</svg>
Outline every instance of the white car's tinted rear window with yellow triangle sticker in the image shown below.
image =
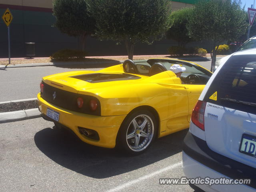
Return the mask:
<svg viewBox="0 0 256 192">
<path fill-rule="evenodd" d="M 204 100 L 256 114 L 256 55 L 232 56 L 214 78 Z"/>
</svg>

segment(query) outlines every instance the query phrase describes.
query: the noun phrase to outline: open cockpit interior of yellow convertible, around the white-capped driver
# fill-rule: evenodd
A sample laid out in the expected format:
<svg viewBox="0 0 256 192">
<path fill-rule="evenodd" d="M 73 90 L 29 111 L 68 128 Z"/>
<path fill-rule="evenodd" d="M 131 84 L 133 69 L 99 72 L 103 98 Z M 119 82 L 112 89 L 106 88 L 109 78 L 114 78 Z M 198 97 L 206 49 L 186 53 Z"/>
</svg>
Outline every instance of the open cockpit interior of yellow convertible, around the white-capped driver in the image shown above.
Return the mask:
<svg viewBox="0 0 256 192">
<path fill-rule="evenodd" d="M 206 84 L 212 73 L 194 63 L 169 59 L 149 59 L 147 62 L 136 62 L 125 60 L 123 64 L 124 72 L 153 76 L 155 74 L 170 70 L 174 64 L 179 64 L 186 68 L 181 74 L 183 84 Z"/>
</svg>

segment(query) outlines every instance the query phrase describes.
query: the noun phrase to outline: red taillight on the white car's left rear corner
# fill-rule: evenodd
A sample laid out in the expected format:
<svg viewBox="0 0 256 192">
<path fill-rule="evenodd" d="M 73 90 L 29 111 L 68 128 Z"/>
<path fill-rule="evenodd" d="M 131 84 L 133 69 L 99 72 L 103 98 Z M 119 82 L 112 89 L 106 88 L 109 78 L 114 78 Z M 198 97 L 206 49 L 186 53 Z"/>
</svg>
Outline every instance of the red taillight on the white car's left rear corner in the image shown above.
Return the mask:
<svg viewBox="0 0 256 192">
<path fill-rule="evenodd" d="M 198 128 L 204 131 L 204 111 L 206 102 L 198 100 L 196 106 L 193 109 L 191 121 L 198 126 Z"/>
</svg>

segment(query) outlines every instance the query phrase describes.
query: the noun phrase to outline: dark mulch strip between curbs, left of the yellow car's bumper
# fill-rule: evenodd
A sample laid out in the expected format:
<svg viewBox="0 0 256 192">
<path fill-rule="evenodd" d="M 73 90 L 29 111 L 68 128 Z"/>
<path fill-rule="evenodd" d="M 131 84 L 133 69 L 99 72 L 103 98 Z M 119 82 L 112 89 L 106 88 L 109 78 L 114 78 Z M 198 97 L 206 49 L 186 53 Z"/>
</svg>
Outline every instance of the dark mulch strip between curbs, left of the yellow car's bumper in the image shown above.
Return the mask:
<svg viewBox="0 0 256 192">
<path fill-rule="evenodd" d="M 37 108 L 37 100 L 35 101 L 25 101 L 25 102 L 18 102 L 18 103 L 7 103 L 0 105 L 0 112 L 10 112 L 10 111 L 19 111 L 25 109 L 34 109 Z"/>
</svg>

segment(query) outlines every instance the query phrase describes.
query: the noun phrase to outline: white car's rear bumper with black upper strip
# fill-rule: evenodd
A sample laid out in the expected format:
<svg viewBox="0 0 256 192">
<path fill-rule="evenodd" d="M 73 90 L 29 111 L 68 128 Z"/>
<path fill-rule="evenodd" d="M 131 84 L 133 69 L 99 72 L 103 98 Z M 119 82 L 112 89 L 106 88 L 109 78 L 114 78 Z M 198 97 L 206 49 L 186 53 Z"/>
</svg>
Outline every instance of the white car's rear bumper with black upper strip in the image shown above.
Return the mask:
<svg viewBox="0 0 256 192">
<path fill-rule="evenodd" d="M 256 168 L 247 166 L 212 151 L 206 141 L 192 135 L 186 135 L 183 142 L 183 171 L 187 178 L 210 177 L 251 179 L 247 185 L 197 185 L 205 191 L 256 191 Z"/>
</svg>

